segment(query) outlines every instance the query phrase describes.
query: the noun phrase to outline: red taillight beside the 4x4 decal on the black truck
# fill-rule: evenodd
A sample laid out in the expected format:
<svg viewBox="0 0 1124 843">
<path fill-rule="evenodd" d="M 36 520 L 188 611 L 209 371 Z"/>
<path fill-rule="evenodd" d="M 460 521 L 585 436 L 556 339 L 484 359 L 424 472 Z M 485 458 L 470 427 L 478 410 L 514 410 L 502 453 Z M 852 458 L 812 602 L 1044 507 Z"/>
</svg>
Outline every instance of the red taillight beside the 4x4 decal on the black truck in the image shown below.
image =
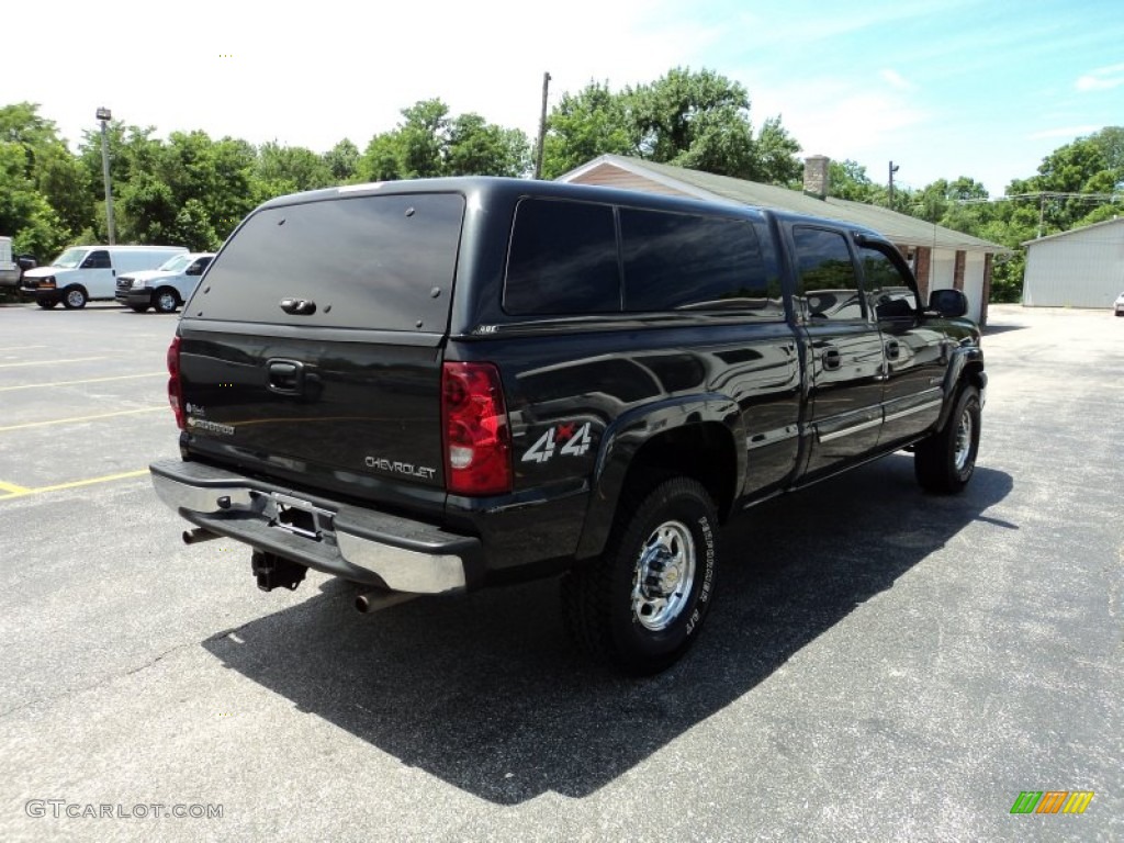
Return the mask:
<svg viewBox="0 0 1124 843">
<path fill-rule="evenodd" d="M 445 363 L 441 415 L 445 488 L 456 495 L 511 490 L 511 433 L 499 370 L 491 363 Z"/>
</svg>

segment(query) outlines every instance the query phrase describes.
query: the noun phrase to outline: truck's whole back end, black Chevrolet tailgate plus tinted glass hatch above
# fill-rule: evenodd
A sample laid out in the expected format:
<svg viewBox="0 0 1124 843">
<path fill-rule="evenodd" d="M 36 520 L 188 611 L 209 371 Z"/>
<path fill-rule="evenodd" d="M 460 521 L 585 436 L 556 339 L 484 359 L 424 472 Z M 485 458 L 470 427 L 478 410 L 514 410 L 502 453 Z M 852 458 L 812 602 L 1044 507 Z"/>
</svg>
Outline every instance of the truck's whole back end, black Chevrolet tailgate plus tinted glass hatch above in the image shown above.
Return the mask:
<svg viewBox="0 0 1124 843">
<path fill-rule="evenodd" d="M 443 490 L 463 210 L 460 194 L 392 194 L 250 217 L 180 324 L 188 451 L 364 499 Z"/>
</svg>

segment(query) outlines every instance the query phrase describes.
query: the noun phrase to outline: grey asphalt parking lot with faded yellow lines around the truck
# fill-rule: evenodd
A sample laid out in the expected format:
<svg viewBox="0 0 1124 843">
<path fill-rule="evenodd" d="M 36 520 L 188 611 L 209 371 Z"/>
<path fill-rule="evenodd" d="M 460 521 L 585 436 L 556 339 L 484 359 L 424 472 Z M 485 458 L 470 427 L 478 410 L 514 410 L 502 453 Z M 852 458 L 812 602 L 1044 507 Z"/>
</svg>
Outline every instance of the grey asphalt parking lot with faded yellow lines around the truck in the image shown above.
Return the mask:
<svg viewBox="0 0 1124 843">
<path fill-rule="evenodd" d="M 756 508 L 641 681 L 553 582 L 364 617 L 183 545 L 174 326 L 0 307 L 0 839 L 1124 840 L 1124 319 L 994 307 L 967 492 L 901 454 Z"/>
</svg>

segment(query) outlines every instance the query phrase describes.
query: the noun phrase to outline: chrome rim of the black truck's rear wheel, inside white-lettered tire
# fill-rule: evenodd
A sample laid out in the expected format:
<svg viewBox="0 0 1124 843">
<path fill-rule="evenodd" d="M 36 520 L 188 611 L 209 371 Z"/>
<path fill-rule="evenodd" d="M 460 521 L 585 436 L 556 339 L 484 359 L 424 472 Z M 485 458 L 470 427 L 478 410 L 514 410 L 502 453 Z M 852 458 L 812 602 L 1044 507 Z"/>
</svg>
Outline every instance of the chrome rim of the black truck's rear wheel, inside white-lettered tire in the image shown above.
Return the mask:
<svg viewBox="0 0 1124 843">
<path fill-rule="evenodd" d="M 682 614 L 695 583 L 695 538 L 681 522 L 652 531 L 633 571 L 633 618 L 645 629 L 667 629 Z"/>
</svg>

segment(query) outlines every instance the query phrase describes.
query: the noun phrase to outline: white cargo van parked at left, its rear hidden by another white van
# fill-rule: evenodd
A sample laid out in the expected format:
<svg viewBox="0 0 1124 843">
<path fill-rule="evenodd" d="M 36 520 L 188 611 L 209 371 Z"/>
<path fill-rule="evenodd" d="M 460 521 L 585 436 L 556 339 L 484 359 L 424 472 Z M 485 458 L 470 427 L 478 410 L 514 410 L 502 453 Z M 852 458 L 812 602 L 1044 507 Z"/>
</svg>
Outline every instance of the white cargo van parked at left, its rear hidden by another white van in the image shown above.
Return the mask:
<svg viewBox="0 0 1124 843">
<path fill-rule="evenodd" d="M 49 266 L 27 270 L 19 289 L 33 293 L 39 307 L 61 301 L 73 310 L 93 299 L 112 299 L 118 273 L 154 270 L 187 252 L 183 246 L 71 246 Z"/>
</svg>

